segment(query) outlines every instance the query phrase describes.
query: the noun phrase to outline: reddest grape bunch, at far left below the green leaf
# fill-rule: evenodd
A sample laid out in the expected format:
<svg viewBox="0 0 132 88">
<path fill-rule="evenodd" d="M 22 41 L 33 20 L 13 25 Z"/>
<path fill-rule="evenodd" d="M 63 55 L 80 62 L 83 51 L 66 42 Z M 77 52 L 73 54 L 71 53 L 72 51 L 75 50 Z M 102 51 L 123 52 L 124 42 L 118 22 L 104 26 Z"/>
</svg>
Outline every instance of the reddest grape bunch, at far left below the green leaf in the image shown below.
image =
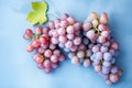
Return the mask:
<svg viewBox="0 0 132 88">
<path fill-rule="evenodd" d="M 35 29 L 35 33 L 33 33 L 31 29 L 28 29 L 23 36 L 25 40 L 31 40 L 26 51 L 36 51 L 33 59 L 36 62 L 37 67 L 40 69 L 44 69 L 47 74 L 51 73 L 53 68 L 57 68 L 59 62 L 64 62 L 66 59 L 65 55 L 58 50 L 58 47 L 51 43 L 48 31 L 48 26 L 37 26 Z"/>
</svg>

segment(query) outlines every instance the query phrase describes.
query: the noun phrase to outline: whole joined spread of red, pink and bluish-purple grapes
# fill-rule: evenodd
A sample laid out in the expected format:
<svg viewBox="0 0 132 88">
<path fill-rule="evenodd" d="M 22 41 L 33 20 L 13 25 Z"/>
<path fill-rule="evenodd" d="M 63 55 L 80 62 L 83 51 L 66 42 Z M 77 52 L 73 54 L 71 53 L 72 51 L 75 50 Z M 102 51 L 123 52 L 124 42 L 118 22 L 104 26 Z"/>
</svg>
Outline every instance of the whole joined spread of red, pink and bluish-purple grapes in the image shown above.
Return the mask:
<svg viewBox="0 0 132 88">
<path fill-rule="evenodd" d="M 84 67 L 94 66 L 96 73 L 101 75 L 108 85 L 119 81 L 123 70 L 116 65 L 119 54 L 119 44 L 110 35 L 107 26 L 108 14 L 100 16 L 92 12 L 88 19 L 80 23 L 68 14 L 62 19 L 50 21 L 47 26 L 35 29 L 35 33 L 28 29 L 25 40 L 32 40 L 26 51 L 36 51 L 33 58 L 37 67 L 51 73 L 57 68 L 59 62 L 66 59 L 59 48 L 68 53 L 75 65 Z"/>
</svg>

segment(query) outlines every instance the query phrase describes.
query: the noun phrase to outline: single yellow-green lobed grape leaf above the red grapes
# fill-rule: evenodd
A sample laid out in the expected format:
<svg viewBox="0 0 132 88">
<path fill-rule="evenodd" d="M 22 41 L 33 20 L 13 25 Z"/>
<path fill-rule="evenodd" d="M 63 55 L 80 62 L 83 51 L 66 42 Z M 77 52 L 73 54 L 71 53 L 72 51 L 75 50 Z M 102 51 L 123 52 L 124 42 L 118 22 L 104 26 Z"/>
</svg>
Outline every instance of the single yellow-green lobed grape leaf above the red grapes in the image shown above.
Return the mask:
<svg viewBox="0 0 132 88">
<path fill-rule="evenodd" d="M 32 9 L 34 11 L 29 12 L 26 20 L 31 23 L 31 24 L 43 24 L 47 21 L 47 3 L 42 1 L 42 2 L 32 2 Z"/>
</svg>

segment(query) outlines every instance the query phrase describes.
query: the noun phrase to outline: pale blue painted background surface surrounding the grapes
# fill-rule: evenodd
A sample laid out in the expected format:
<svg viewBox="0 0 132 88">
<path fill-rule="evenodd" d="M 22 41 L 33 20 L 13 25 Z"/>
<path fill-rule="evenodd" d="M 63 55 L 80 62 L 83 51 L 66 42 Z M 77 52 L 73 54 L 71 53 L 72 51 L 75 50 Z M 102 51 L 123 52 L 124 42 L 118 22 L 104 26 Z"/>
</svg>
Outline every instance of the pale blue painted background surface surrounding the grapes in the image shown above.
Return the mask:
<svg viewBox="0 0 132 88">
<path fill-rule="evenodd" d="M 92 68 L 70 61 L 50 75 L 37 69 L 22 38 L 25 29 L 32 28 L 25 20 L 32 1 L 0 0 L 0 88 L 132 88 L 132 0 L 46 0 L 50 10 L 67 12 L 80 21 L 92 11 L 108 12 L 112 35 L 120 43 L 117 63 L 124 70 L 120 82 L 112 86 Z"/>
</svg>

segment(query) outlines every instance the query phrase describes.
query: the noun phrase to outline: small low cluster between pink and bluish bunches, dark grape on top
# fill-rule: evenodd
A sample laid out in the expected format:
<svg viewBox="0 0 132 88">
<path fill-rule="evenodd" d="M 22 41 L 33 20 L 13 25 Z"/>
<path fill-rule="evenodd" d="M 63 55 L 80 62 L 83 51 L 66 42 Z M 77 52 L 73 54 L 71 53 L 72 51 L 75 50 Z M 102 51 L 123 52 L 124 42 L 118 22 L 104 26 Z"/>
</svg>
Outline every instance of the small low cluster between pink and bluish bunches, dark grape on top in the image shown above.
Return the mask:
<svg viewBox="0 0 132 88">
<path fill-rule="evenodd" d="M 90 41 L 87 37 L 82 36 L 81 44 L 78 46 L 77 51 L 68 53 L 68 57 L 72 59 L 73 64 L 82 64 L 84 67 L 89 67 L 92 64 L 90 59 L 91 52 L 88 50 L 89 44 Z"/>
</svg>

